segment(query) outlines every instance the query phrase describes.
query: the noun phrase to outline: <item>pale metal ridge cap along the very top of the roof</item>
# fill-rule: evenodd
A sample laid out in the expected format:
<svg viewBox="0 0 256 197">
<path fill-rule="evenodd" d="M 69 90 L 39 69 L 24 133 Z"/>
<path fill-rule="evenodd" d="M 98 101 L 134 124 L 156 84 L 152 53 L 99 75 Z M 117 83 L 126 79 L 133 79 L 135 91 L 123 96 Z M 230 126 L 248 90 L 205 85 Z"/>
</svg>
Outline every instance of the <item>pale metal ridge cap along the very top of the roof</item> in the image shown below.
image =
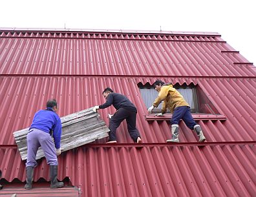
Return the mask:
<svg viewBox="0 0 256 197">
<path fill-rule="evenodd" d="M 171 34 L 192 36 L 221 36 L 218 32 L 186 32 L 186 31 L 162 31 L 162 30 L 104 30 L 82 28 L 15 28 L 0 27 L 0 31 L 15 32 L 91 32 L 91 33 L 120 33 L 120 34 Z"/>
</svg>

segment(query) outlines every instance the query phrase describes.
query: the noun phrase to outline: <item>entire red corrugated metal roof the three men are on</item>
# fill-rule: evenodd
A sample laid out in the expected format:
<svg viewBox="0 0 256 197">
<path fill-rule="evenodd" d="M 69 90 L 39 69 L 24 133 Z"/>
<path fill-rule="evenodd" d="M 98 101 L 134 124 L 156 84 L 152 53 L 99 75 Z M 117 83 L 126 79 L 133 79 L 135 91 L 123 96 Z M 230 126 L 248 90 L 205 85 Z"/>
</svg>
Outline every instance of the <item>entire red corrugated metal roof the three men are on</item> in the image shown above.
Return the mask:
<svg viewBox="0 0 256 197">
<path fill-rule="evenodd" d="M 25 181 L 12 132 L 29 127 L 48 98 L 65 116 L 104 102 L 103 88 L 125 94 L 138 108 L 144 144 L 134 145 L 125 123 L 118 145 L 96 141 L 59 156 L 60 180 L 82 196 L 253 196 L 256 71 L 219 34 L 184 32 L 61 32 L 0 30 L 0 169 Z M 156 79 L 199 85 L 225 119 L 198 119 L 208 143 L 180 123 L 179 145 L 166 144 L 169 121 L 146 121 L 138 83 Z M 100 110 L 108 123 L 107 113 Z M 125 144 L 124 144 L 125 143 Z M 10 165 L 14 163 L 14 165 Z M 49 180 L 45 160 L 35 181 Z"/>
</svg>

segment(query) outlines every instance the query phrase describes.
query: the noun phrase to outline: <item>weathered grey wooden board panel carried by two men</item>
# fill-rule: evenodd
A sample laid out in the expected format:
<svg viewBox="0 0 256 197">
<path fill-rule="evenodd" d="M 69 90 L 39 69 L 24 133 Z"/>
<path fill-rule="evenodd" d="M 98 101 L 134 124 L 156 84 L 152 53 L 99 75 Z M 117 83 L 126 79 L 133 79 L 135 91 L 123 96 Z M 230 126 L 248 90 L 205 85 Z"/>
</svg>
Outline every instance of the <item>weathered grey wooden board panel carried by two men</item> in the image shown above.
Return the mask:
<svg viewBox="0 0 256 197">
<path fill-rule="evenodd" d="M 74 149 L 97 139 L 106 138 L 109 128 L 100 118 L 100 114 L 89 109 L 61 117 L 62 135 L 61 152 Z M 14 139 L 21 154 L 22 160 L 27 160 L 27 133 L 28 129 L 14 132 Z M 45 154 L 41 147 L 37 150 L 36 159 L 43 158 Z"/>
</svg>

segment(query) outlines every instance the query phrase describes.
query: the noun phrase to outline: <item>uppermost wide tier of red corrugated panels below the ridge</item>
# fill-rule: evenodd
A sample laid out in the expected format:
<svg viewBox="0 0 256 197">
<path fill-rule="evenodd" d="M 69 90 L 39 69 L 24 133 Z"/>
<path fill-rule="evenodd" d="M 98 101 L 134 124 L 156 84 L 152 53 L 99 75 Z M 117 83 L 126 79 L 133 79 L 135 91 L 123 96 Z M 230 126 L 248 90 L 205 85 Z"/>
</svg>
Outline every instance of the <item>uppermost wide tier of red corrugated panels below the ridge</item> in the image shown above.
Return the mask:
<svg viewBox="0 0 256 197">
<path fill-rule="evenodd" d="M 246 59 L 240 54 L 227 56 L 214 42 L 48 37 L 0 41 L 5 45 L 2 74 L 253 76 L 250 69 L 233 65 L 248 63 Z"/>
</svg>

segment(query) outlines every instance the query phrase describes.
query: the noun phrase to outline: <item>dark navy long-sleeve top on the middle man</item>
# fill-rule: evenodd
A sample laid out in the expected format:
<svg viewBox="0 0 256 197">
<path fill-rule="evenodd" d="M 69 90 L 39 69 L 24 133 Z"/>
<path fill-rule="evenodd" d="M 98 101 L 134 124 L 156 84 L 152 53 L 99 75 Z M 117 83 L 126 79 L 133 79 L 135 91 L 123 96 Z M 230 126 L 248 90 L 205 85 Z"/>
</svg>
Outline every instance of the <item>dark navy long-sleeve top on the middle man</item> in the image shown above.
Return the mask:
<svg viewBox="0 0 256 197">
<path fill-rule="evenodd" d="M 116 110 L 123 108 L 131 110 L 131 112 L 137 112 L 136 107 L 126 96 L 115 92 L 109 93 L 109 95 L 107 96 L 107 101 L 99 107 L 100 109 L 105 109 L 111 105 L 113 105 Z"/>
</svg>

